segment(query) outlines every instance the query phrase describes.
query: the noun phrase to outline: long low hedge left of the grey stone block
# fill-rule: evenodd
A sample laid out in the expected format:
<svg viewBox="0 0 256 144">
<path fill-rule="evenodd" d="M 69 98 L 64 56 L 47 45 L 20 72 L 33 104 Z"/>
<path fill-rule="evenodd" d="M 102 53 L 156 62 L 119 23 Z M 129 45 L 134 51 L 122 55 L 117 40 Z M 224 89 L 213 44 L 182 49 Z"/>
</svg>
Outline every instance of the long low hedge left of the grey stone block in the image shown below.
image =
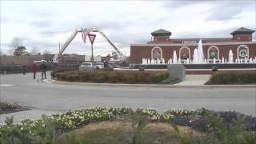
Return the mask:
<svg viewBox="0 0 256 144">
<path fill-rule="evenodd" d="M 52 78 L 68 82 L 106 82 L 106 83 L 160 83 L 169 74 L 166 71 L 58 71 L 51 73 Z"/>
</svg>

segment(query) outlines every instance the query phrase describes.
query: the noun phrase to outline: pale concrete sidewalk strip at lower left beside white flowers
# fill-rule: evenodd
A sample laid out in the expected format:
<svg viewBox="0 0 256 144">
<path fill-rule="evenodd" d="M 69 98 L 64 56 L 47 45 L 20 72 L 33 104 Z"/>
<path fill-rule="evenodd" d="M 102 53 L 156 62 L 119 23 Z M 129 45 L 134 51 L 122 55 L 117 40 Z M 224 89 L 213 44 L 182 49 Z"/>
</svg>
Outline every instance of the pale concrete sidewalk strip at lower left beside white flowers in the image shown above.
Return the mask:
<svg viewBox="0 0 256 144">
<path fill-rule="evenodd" d="M 50 111 L 50 110 L 25 110 L 10 114 L 1 114 L 0 123 L 4 123 L 7 117 L 14 116 L 14 123 L 21 122 L 24 119 L 40 119 L 42 114 L 51 115 L 58 114 L 62 111 Z"/>
</svg>

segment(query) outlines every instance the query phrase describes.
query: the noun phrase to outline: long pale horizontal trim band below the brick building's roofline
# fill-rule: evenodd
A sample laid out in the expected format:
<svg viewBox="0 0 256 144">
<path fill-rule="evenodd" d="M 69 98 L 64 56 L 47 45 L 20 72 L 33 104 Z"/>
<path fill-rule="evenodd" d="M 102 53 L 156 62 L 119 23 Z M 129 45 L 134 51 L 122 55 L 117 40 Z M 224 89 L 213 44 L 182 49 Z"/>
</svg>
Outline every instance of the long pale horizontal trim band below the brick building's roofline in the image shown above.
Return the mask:
<svg viewBox="0 0 256 144">
<path fill-rule="evenodd" d="M 256 42 L 215 42 L 215 43 L 202 43 L 202 46 L 213 45 L 242 45 L 242 44 L 256 44 Z M 198 46 L 198 43 L 168 43 L 168 44 L 130 44 L 130 46 Z"/>
</svg>

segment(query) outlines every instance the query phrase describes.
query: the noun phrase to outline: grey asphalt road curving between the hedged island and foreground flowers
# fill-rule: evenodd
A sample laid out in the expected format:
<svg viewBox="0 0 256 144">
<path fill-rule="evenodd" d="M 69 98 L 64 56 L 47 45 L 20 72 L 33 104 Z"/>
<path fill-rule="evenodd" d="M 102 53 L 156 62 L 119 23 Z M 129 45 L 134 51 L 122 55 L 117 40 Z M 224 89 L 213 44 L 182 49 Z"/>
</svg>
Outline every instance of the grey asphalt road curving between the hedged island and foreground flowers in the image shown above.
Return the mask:
<svg viewBox="0 0 256 144">
<path fill-rule="evenodd" d="M 40 74 L 38 74 L 39 76 Z M 48 73 L 48 78 L 50 75 Z M 92 106 L 155 108 L 205 107 L 256 115 L 255 88 L 159 88 L 139 86 L 69 86 L 43 82 L 32 74 L 1 75 L 0 100 L 36 110 L 64 111 Z"/>
</svg>

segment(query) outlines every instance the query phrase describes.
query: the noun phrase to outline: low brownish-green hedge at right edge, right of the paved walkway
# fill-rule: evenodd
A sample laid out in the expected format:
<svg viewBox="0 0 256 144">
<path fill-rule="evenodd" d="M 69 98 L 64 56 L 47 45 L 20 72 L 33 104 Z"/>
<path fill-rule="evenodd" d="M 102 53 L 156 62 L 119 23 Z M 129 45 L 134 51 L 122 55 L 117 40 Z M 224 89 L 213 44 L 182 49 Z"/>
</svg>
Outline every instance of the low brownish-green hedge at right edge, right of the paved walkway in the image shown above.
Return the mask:
<svg viewBox="0 0 256 144">
<path fill-rule="evenodd" d="M 256 84 L 256 71 L 219 71 L 206 82 L 212 84 Z"/>
</svg>

